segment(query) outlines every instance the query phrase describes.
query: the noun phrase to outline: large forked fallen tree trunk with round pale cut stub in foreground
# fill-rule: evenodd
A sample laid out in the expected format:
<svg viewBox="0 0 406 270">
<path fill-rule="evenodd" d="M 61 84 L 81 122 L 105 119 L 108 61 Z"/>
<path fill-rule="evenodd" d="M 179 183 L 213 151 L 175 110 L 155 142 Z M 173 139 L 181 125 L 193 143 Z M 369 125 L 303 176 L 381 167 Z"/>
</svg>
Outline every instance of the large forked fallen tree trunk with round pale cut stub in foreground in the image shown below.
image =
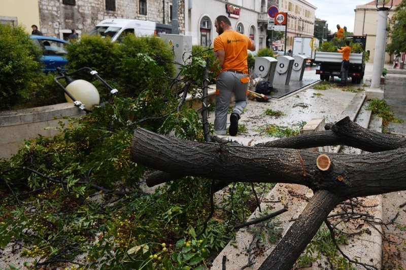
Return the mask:
<svg viewBox="0 0 406 270">
<path fill-rule="evenodd" d="M 355 125 L 350 122 L 346 126 Z M 370 138 L 377 137 L 375 141 L 370 138 L 363 141 L 362 132 L 355 137 L 348 136 L 358 137 L 362 147 L 369 150 L 374 150 L 371 146 L 376 142 L 379 149 L 385 148 L 385 142 L 389 149 L 401 148 L 363 155 L 321 156 L 308 150 L 189 142 L 137 128 L 130 158 L 170 175 L 205 177 L 220 184 L 278 182 L 311 188 L 315 196 L 261 266 L 261 269 L 290 269 L 322 221 L 341 201 L 406 189 L 404 139 L 383 134 L 379 137 L 378 132 L 371 134 L 374 137 Z M 354 139 L 348 141 L 356 147 Z M 167 181 L 174 179 L 169 177 Z"/>
</svg>

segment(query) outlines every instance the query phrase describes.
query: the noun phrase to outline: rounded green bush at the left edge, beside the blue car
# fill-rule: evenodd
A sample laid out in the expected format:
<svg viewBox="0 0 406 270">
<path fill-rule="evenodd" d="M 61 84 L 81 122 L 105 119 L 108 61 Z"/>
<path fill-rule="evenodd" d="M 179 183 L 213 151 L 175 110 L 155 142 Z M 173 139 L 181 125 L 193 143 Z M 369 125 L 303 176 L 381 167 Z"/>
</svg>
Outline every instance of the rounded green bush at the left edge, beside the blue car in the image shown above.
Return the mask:
<svg viewBox="0 0 406 270">
<path fill-rule="evenodd" d="M 41 84 L 41 51 L 22 26 L 0 24 L 0 110 L 22 103 Z"/>
</svg>

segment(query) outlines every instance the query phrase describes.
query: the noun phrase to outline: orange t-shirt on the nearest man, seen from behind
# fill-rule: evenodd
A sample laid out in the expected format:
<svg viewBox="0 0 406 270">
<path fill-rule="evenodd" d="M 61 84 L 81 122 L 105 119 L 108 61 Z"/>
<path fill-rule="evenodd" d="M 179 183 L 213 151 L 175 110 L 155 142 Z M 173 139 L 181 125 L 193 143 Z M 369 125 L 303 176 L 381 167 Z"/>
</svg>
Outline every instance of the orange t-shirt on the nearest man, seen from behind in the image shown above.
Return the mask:
<svg viewBox="0 0 406 270">
<path fill-rule="evenodd" d="M 237 31 L 224 31 L 214 39 L 214 51 L 224 50 L 222 71 L 241 71 L 248 74 L 247 50 L 252 48 L 252 41 Z"/>
</svg>

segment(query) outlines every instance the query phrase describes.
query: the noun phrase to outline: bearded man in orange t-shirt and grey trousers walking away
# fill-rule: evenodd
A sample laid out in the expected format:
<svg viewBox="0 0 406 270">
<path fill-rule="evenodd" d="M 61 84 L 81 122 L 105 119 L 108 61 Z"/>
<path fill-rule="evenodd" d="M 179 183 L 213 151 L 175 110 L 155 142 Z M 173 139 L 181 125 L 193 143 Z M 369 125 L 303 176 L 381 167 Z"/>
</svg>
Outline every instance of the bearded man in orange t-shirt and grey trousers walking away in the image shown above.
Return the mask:
<svg viewBox="0 0 406 270">
<path fill-rule="evenodd" d="M 216 18 L 214 26 L 219 34 L 214 40 L 214 56 L 218 58 L 221 66 L 216 80 L 214 132 L 218 135 L 227 134 L 228 106 L 231 93 L 234 93 L 235 106 L 230 115 L 228 133 L 230 136 L 235 136 L 238 132 L 238 121 L 247 106 L 250 81 L 247 50 L 255 51 L 255 45 L 248 37 L 234 31 L 230 20 L 224 15 Z"/>
</svg>

